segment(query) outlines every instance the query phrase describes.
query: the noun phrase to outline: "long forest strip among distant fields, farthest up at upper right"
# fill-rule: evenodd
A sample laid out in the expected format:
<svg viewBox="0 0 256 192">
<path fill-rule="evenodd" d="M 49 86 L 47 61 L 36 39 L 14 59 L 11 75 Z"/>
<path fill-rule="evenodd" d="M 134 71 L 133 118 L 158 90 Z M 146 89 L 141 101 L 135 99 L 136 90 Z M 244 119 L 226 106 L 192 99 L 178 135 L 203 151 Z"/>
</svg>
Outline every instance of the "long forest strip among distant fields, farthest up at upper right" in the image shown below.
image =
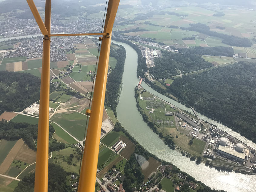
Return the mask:
<svg viewBox="0 0 256 192">
<path fill-rule="evenodd" d="M 215 31 L 210 31 L 210 27 L 202 23 L 190 23 L 190 27 L 180 27 L 181 30 L 197 31 L 206 35 L 222 38 L 222 43 L 237 47 L 251 47 L 252 43 L 248 38 L 241 38 L 234 35 L 226 35 Z"/>
</svg>

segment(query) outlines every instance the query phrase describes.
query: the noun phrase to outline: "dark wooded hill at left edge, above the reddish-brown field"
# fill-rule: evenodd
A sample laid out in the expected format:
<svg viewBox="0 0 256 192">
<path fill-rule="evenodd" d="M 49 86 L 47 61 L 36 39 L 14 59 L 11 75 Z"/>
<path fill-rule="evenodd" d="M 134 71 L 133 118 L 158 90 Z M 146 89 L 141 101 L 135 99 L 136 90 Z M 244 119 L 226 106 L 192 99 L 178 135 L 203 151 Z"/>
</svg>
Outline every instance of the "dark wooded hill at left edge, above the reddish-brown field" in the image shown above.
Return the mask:
<svg viewBox="0 0 256 192">
<path fill-rule="evenodd" d="M 29 73 L 0 71 L 0 114 L 20 112 L 39 100 L 41 79 Z"/>
</svg>

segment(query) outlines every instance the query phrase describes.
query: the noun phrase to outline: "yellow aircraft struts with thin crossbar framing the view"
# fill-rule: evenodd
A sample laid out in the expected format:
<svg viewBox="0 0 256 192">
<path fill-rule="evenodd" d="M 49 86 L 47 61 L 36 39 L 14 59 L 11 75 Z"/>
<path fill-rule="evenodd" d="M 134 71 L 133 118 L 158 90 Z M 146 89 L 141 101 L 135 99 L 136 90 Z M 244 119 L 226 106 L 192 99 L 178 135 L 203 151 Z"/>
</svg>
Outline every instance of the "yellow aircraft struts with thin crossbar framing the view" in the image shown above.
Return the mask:
<svg viewBox="0 0 256 192">
<path fill-rule="evenodd" d="M 35 192 L 47 192 L 48 190 L 50 37 L 103 35 L 94 96 L 91 104 L 91 114 L 85 141 L 85 150 L 81 166 L 80 180 L 78 183 L 78 192 L 93 192 L 95 190 L 96 171 L 98 164 L 98 152 L 107 83 L 111 34 L 120 0 L 109 0 L 103 33 L 81 34 L 51 34 L 51 0 L 46 0 L 45 2 L 44 23 L 33 0 L 27 0 L 27 2 L 42 34 L 44 35 L 38 121 L 38 141 L 35 168 Z"/>
</svg>

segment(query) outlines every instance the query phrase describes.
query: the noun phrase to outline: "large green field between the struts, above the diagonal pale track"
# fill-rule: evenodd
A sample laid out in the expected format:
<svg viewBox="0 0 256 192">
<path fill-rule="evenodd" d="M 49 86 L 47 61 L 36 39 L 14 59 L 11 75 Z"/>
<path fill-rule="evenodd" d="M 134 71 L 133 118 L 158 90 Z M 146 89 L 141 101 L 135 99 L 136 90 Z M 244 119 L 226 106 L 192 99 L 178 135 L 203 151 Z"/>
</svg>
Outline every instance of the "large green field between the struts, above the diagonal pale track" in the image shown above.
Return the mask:
<svg viewBox="0 0 256 192">
<path fill-rule="evenodd" d="M 51 120 L 58 123 L 66 131 L 82 141 L 85 134 L 86 116 L 78 112 L 58 113 Z M 87 124 L 88 126 L 88 124 Z"/>
</svg>

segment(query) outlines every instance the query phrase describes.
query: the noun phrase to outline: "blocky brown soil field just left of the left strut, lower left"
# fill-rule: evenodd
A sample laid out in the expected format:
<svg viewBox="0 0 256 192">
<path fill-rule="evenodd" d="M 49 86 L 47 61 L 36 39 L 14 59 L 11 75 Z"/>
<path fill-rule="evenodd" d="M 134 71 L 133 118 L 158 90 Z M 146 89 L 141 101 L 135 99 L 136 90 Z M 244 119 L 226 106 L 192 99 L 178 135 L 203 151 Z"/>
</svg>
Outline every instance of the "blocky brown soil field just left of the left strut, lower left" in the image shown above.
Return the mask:
<svg viewBox="0 0 256 192">
<path fill-rule="evenodd" d="M 36 152 L 23 143 L 15 159 L 32 164 L 36 161 Z"/>
</svg>

